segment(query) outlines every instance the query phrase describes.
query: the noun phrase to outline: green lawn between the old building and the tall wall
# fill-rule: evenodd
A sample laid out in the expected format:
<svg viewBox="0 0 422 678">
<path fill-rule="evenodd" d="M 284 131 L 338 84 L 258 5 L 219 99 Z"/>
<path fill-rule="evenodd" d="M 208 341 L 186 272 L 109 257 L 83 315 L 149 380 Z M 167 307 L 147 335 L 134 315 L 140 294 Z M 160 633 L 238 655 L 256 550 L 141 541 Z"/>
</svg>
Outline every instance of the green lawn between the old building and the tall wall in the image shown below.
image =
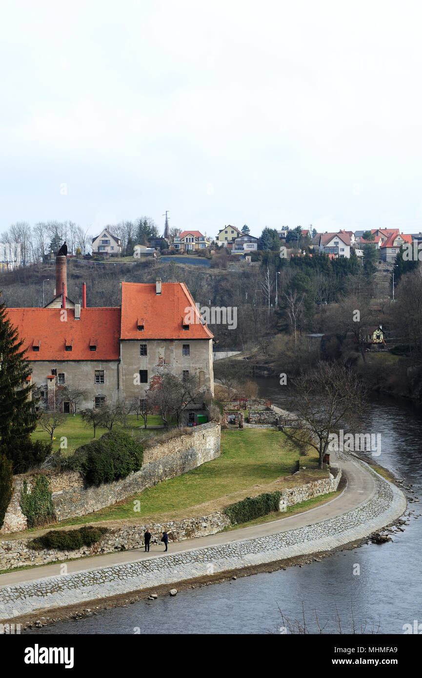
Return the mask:
<svg viewBox="0 0 422 678">
<path fill-rule="evenodd" d="M 75 416 L 66 414 L 65 417 L 66 420 L 64 424 L 54 431 L 55 440 L 53 440 L 53 450 L 60 450 L 60 438 L 64 436 L 67 438 L 67 448 L 62 449 L 62 452 L 66 455 L 74 452 L 80 445 L 85 445 L 92 441 L 94 437 L 94 428 L 84 424 L 80 414 L 76 414 Z M 161 420 L 161 416 L 150 414 L 148 417 L 148 426 L 162 426 L 162 424 L 163 421 Z M 115 424 L 115 426 L 119 426 L 119 424 Z M 139 432 L 144 430 L 144 421 L 141 417 L 136 420 L 136 414 L 128 416 L 128 433 L 132 433 L 133 430 Z M 98 427 L 96 430 L 96 437 L 99 438 L 103 433 L 106 433 L 106 431 L 107 428 Z M 148 431 L 148 433 L 153 433 L 153 431 Z M 39 425 L 35 429 L 32 437 L 35 440 L 50 440 L 50 434 L 47 433 L 47 431 L 43 431 Z"/>
</svg>

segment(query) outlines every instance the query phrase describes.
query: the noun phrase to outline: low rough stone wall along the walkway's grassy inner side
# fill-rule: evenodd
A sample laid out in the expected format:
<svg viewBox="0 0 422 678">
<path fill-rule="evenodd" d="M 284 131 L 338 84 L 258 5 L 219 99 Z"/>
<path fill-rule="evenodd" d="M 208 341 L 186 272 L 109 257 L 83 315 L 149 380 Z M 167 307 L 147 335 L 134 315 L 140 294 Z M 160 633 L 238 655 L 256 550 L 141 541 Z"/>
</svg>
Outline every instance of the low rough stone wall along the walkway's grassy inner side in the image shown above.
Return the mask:
<svg viewBox="0 0 422 678">
<path fill-rule="evenodd" d="M 333 467 L 333 473 L 329 478 L 306 483 L 300 487 L 292 487 L 283 492 L 280 500 L 280 511 L 286 511 L 287 506 L 303 502 L 307 499 L 335 492 L 339 486 L 341 471 Z M 28 539 L 13 539 L 0 542 L 0 570 L 9 570 L 22 565 L 45 565 L 56 560 L 64 561 L 73 558 L 81 558 L 85 555 L 98 555 L 113 553 L 129 549 L 139 549 L 144 545 L 144 532 L 149 527 L 153 540 L 161 537 L 166 527 L 170 540 L 181 542 L 186 539 L 204 537 L 208 534 L 216 534 L 223 527 L 230 525 L 230 521 L 224 513 L 212 513 L 208 516 L 189 518 L 182 521 L 169 521 L 168 523 L 153 523 L 152 525 L 125 525 L 113 527 L 103 538 L 92 546 L 83 546 L 77 551 L 56 551 L 44 549 L 33 551 L 28 548 Z M 77 529 L 69 527 L 69 530 Z"/>
</svg>

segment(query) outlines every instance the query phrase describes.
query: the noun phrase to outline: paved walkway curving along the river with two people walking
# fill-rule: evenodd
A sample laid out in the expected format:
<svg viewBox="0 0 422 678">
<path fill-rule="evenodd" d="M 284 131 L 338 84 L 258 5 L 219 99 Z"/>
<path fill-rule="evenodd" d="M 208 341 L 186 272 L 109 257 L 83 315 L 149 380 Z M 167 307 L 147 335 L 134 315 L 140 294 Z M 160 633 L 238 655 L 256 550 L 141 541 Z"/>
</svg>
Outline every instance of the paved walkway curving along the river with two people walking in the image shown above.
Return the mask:
<svg viewBox="0 0 422 678">
<path fill-rule="evenodd" d="M 351 509 L 356 509 L 361 504 L 366 504 L 370 501 L 375 494 L 374 476 L 371 473 L 368 473 L 363 466 L 356 464 L 353 460 L 337 460 L 336 463 L 341 466 L 343 475 L 347 479 L 347 487 L 345 487 L 345 490 L 343 490 L 342 494 L 337 496 L 337 498 L 334 498 L 326 504 L 322 504 L 322 506 L 316 506 L 315 509 L 310 509 L 304 513 L 299 513 L 269 523 L 244 527 L 240 530 L 219 532 L 218 534 L 212 534 L 210 536 L 183 542 L 170 542 L 169 551 L 167 553 L 164 553 L 161 544 L 152 544 L 149 553 L 145 553 L 143 549 L 134 549 L 133 551 L 119 551 L 118 553 L 109 553 L 102 556 L 66 561 L 67 573 L 89 572 L 91 570 L 98 570 L 100 567 L 111 567 L 112 565 L 119 565 L 122 563 L 166 558 L 175 553 L 184 553 L 193 549 L 200 549 L 204 546 L 231 544 L 232 542 L 237 542 L 239 540 L 265 537 L 270 534 L 279 534 L 287 532 L 288 530 L 294 530 L 296 527 L 314 525 L 320 521 L 325 521 L 328 518 L 346 513 Z M 47 577 L 54 577 L 57 576 L 57 574 L 57 563 L 33 567 L 31 570 L 20 570 L 18 572 L 10 572 L 9 574 L 1 574 L 0 588 L 1 586 L 13 586 L 14 584 L 23 582 L 32 582 Z"/>
</svg>

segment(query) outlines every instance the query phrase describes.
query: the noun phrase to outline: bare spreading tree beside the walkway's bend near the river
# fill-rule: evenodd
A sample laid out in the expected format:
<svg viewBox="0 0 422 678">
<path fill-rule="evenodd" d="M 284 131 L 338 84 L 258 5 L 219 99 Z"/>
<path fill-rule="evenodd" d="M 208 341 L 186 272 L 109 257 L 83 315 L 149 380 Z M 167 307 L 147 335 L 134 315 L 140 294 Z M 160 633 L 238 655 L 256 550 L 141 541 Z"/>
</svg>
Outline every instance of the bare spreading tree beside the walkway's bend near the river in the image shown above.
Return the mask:
<svg viewBox="0 0 422 678">
<path fill-rule="evenodd" d="M 292 401 L 285 433 L 294 443 L 311 445 L 322 468 L 330 434 L 352 426 L 362 412 L 365 388 L 354 372 L 339 363 L 317 363 L 290 380 Z"/>
</svg>

